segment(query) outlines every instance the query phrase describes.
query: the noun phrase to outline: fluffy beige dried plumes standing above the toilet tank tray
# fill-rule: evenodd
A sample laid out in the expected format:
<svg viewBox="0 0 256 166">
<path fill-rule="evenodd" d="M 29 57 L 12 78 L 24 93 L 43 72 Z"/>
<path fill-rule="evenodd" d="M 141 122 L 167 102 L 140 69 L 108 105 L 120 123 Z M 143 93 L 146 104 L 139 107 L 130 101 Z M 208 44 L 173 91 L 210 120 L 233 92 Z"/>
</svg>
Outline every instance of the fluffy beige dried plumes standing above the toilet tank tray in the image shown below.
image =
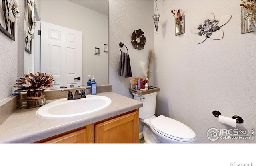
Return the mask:
<svg viewBox="0 0 256 166">
<path fill-rule="evenodd" d="M 155 54 L 154 51 L 151 49 L 148 55 L 148 63 L 147 62 L 140 62 L 140 67 L 142 69 L 142 76 L 145 78 L 150 78 L 152 75 L 152 68 L 154 67 L 154 58 Z"/>
</svg>

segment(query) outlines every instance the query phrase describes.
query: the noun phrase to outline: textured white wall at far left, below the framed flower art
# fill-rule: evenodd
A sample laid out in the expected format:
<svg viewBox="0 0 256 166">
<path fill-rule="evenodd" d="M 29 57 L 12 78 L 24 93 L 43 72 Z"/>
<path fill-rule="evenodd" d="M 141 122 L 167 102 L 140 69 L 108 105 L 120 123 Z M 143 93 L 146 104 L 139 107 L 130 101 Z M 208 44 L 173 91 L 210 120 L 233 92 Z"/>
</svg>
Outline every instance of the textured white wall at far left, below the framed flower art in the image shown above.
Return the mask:
<svg viewBox="0 0 256 166">
<path fill-rule="evenodd" d="M 19 2 L 19 11 L 24 12 L 24 1 Z M 15 25 L 15 41 L 0 32 L 0 101 L 12 95 L 13 85 L 18 78 L 18 68 L 23 70 L 24 55 L 24 16 Z M 21 63 L 21 64 L 20 64 Z"/>
</svg>

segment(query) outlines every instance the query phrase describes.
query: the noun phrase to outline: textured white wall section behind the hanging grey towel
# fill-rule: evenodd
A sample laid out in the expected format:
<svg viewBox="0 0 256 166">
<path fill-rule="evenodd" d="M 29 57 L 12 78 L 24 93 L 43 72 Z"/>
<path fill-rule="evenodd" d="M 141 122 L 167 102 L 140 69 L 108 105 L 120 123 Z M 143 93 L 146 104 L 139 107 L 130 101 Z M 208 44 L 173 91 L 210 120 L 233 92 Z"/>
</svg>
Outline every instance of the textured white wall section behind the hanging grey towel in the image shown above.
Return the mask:
<svg viewBox="0 0 256 166">
<path fill-rule="evenodd" d="M 112 91 L 133 98 L 129 92 L 130 79 L 142 77 L 140 62 L 147 61 L 150 49 L 153 49 L 153 1 L 110 0 L 109 1 L 109 84 Z M 143 50 L 134 49 L 131 36 L 134 30 L 141 29 L 146 37 Z M 122 42 L 128 48 L 132 68 L 132 77 L 121 78 L 117 75 Z M 126 51 L 126 48 L 122 48 Z M 150 80 L 152 81 L 152 80 Z M 153 81 L 152 81 L 153 82 Z"/>
</svg>

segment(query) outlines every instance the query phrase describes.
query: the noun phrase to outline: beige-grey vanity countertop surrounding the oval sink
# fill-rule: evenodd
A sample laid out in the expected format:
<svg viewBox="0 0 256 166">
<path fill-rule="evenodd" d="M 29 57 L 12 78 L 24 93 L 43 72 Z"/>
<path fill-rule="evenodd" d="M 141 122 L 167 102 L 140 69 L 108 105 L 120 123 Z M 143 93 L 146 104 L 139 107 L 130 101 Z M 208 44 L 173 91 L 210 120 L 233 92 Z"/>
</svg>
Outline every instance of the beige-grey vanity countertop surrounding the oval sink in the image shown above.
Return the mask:
<svg viewBox="0 0 256 166">
<path fill-rule="evenodd" d="M 16 109 L 0 125 L 0 143 L 33 143 L 143 106 L 142 102 L 114 92 L 103 92 L 98 95 L 110 98 L 111 104 L 101 111 L 81 117 L 46 119 L 36 115 L 38 108 Z"/>
</svg>

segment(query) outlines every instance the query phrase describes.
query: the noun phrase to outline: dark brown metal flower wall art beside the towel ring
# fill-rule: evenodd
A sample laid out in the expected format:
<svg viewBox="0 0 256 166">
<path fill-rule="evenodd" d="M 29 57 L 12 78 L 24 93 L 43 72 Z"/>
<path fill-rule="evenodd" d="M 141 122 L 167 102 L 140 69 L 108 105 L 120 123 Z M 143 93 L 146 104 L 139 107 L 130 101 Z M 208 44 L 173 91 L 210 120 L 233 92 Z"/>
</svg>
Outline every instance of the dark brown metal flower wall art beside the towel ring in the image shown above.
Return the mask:
<svg viewBox="0 0 256 166">
<path fill-rule="evenodd" d="M 134 49 L 144 49 L 144 45 L 146 43 L 146 37 L 143 35 L 144 32 L 141 29 L 134 30 L 132 33 L 132 45 Z"/>
</svg>

